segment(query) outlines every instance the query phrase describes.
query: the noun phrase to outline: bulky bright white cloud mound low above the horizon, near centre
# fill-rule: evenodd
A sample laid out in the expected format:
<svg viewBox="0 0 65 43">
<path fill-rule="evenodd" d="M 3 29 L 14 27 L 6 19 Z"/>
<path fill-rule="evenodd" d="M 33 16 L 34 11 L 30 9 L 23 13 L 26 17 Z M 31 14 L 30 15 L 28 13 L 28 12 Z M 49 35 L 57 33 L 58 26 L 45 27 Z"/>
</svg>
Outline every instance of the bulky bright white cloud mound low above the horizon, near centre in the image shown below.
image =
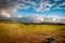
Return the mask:
<svg viewBox="0 0 65 43">
<path fill-rule="evenodd" d="M 38 15 L 38 14 L 31 14 L 30 16 L 28 16 L 29 20 L 34 22 L 34 23 L 42 23 L 43 22 L 43 16 L 42 15 Z"/>
</svg>

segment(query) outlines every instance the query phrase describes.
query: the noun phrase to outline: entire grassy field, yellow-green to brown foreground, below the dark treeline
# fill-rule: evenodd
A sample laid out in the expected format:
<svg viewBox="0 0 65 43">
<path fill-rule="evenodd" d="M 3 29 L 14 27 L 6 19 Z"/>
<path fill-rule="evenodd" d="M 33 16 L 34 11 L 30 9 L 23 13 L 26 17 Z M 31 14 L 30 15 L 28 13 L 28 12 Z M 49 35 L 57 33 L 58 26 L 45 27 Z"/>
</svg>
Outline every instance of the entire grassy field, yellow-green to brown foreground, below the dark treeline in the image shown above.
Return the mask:
<svg viewBox="0 0 65 43">
<path fill-rule="evenodd" d="M 0 23 L 0 43 L 64 43 L 65 25 Z"/>
</svg>

